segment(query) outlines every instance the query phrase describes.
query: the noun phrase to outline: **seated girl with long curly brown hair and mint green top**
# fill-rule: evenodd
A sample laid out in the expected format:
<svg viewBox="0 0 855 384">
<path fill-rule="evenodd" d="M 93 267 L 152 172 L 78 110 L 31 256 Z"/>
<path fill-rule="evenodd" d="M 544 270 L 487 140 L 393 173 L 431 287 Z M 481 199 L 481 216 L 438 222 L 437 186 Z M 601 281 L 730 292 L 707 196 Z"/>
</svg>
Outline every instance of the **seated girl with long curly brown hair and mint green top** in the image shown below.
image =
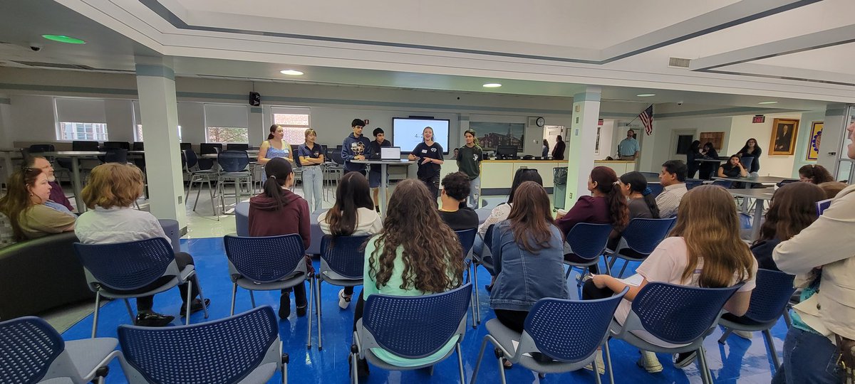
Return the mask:
<svg viewBox="0 0 855 384">
<path fill-rule="evenodd" d="M 442 224 L 433 201 L 433 194 L 419 180 L 408 178 L 395 187 L 383 230 L 365 247 L 364 285 L 354 310 L 354 330 L 363 317 L 365 300 L 372 294 L 436 294 L 463 282 L 463 249 L 457 235 Z M 398 358 L 380 348 L 372 352 L 389 364 L 412 367 L 445 356 L 454 341 L 426 358 Z M 360 360 L 357 371 L 368 375 L 368 364 Z"/>
</svg>

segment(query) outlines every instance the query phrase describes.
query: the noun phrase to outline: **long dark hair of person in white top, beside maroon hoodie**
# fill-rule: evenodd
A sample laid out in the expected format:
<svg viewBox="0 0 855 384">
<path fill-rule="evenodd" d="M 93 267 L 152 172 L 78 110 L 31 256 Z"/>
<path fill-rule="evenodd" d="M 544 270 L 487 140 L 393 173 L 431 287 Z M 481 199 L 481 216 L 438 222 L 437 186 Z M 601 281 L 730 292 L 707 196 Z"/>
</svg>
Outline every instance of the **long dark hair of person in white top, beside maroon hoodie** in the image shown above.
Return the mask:
<svg viewBox="0 0 855 384">
<path fill-rule="evenodd" d="M 374 209 L 369 181 L 362 173 L 349 172 L 335 189 L 335 204 L 327 212 L 329 230 L 334 236 L 351 236 L 357 230 L 357 209 Z"/>
</svg>

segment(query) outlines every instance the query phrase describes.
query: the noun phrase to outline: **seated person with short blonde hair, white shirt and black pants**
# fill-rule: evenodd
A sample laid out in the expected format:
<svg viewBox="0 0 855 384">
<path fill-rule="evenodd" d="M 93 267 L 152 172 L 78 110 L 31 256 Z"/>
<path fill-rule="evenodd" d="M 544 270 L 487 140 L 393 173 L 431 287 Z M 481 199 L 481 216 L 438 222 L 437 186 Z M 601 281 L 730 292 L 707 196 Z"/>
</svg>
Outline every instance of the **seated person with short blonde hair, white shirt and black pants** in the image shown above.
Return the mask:
<svg viewBox="0 0 855 384">
<path fill-rule="evenodd" d="M 74 234 L 84 244 L 112 244 L 116 242 L 138 241 L 153 237 L 162 237 L 170 244 L 163 227 L 149 212 L 133 209 L 134 201 L 143 194 L 143 172 L 136 166 L 121 163 L 107 163 L 96 166 L 89 174 L 89 183 L 80 192 L 80 199 L 90 210 L 77 219 Z M 175 263 L 179 269 L 194 265 L 189 253 L 176 252 Z M 198 299 L 199 281 L 192 277 L 190 295 L 191 313 L 203 310 L 202 300 Z M 150 287 L 139 288 L 139 292 L 149 291 L 161 285 L 154 282 Z M 181 296 L 181 316 L 186 314 L 187 284 L 178 286 Z M 134 292 L 134 291 L 132 291 Z M 205 305 L 210 300 L 205 299 Z M 151 310 L 154 296 L 137 298 L 137 325 L 162 327 L 171 323 L 173 316 L 161 315 Z"/>
</svg>

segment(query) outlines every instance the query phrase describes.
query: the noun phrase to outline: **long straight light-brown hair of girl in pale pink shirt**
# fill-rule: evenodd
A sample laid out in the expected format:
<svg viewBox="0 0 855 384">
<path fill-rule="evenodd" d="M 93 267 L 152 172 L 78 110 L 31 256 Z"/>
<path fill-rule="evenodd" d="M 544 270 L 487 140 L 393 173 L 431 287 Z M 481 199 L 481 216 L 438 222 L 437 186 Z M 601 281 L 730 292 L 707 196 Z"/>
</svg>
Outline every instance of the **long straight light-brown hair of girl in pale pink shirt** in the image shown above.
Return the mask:
<svg viewBox="0 0 855 384">
<path fill-rule="evenodd" d="M 699 286 L 723 288 L 752 278 L 754 257 L 740 240 L 740 220 L 734 198 L 716 185 L 701 185 L 683 195 L 677 208 L 677 224 L 669 236 L 686 241 L 688 263 L 682 273 L 687 282 L 704 260 Z"/>
</svg>

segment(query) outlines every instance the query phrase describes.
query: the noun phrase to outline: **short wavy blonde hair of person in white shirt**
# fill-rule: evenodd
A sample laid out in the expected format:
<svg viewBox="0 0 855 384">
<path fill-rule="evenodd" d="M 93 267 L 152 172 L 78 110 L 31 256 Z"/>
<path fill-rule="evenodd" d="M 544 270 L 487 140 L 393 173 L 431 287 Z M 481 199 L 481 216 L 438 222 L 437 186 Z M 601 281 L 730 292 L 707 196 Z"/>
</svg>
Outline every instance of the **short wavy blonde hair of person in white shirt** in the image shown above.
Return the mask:
<svg viewBox="0 0 855 384">
<path fill-rule="evenodd" d="M 136 166 L 107 163 L 96 166 L 89 174 L 80 198 L 86 207 L 130 207 L 143 191 L 143 172 Z"/>
</svg>

